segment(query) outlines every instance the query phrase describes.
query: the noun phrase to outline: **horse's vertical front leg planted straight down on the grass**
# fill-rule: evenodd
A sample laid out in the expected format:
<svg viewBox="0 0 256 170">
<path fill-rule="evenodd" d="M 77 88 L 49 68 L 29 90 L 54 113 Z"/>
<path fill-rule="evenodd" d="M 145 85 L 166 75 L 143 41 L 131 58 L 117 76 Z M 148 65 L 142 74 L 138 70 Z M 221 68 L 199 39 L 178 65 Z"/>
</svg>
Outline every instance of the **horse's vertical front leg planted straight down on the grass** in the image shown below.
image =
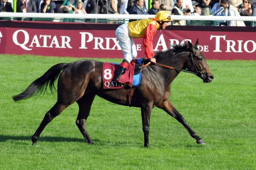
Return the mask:
<svg viewBox="0 0 256 170">
<path fill-rule="evenodd" d="M 149 147 L 149 127 L 150 127 L 150 115 L 152 111 L 152 103 L 146 103 L 141 107 L 142 117 L 142 130 L 144 132 L 144 147 Z"/>
</svg>

